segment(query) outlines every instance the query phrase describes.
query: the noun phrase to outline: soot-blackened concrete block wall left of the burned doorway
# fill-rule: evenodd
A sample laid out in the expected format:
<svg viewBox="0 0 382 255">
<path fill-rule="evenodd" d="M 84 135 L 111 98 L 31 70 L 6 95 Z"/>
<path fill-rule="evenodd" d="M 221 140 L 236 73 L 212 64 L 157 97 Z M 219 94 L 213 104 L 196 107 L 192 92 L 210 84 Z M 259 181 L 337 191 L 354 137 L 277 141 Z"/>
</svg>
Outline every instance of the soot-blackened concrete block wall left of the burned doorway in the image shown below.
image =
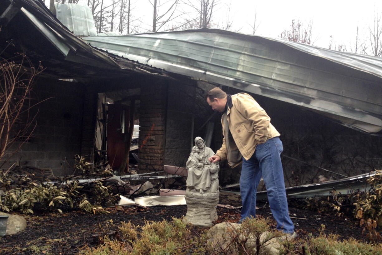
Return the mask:
<svg viewBox="0 0 382 255">
<path fill-rule="evenodd" d="M 36 102 L 36 128 L 31 139 L 24 143 L 11 160 L 20 166 L 52 169 L 58 176 L 70 173 L 74 155 L 81 151 L 84 89 L 81 84 L 59 80 L 37 80 L 33 88 Z M 18 147 L 15 143 L 13 148 Z"/>
</svg>

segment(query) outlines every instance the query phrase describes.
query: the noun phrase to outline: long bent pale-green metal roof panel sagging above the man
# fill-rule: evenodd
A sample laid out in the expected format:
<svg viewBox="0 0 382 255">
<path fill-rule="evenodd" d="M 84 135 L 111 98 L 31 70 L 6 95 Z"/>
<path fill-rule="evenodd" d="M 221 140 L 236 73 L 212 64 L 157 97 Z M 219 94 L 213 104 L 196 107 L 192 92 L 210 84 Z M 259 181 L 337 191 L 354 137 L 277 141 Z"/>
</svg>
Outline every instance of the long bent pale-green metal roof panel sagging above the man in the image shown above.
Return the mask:
<svg viewBox="0 0 382 255">
<path fill-rule="evenodd" d="M 131 60 L 382 129 L 382 61 L 218 29 L 83 38 Z"/>
</svg>

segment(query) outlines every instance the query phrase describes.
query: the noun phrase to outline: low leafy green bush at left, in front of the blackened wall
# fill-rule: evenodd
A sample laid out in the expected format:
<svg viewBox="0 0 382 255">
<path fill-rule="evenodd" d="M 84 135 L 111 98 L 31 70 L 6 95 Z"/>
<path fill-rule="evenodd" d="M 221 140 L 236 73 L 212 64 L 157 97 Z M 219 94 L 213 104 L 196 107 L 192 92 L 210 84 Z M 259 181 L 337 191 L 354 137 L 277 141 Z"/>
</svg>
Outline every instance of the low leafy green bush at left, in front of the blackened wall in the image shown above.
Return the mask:
<svg viewBox="0 0 382 255">
<path fill-rule="evenodd" d="M 110 170 L 95 172 L 90 170 L 89 165 L 91 164 L 83 157 L 76 156 L 75 168 L 81 170 L 81 174 L 84 174 L 82 176 L 112 176 Z M 107 203 L 114 204 L 118 198 L 117 194 L 112 193 L 112 187 L 105 185 L 104 180 L 79 185 L 78 180 L 71 180 L 69 177 L 55 182 L 51 179 L 34 180 L 32 177 L 32 174 L 19 175 L 10 170 L 0 171 L 2 211 L 32 214 L 34 209 L 57 210 L 61 213 L 63 209 L 82 209 L 94 214 L 108 213 L 103 206 Z"/>
</svg>

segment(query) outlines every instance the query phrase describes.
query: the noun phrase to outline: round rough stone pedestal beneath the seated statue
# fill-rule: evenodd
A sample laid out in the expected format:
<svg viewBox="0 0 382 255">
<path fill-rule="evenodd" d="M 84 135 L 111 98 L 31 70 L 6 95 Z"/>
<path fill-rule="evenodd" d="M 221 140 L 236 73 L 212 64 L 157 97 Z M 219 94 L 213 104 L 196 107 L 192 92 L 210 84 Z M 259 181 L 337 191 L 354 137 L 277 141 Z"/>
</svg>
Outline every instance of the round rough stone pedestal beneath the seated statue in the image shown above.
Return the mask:
<svg viewBox="0 0 382 255">
<path fill-rule="evenodd" d="M 217 220 L 216 206 L 219 192 L 204 193 L 186 191 L 187 214 L 183 222 L 199 227 L 210 227 Z"/>
</svg>

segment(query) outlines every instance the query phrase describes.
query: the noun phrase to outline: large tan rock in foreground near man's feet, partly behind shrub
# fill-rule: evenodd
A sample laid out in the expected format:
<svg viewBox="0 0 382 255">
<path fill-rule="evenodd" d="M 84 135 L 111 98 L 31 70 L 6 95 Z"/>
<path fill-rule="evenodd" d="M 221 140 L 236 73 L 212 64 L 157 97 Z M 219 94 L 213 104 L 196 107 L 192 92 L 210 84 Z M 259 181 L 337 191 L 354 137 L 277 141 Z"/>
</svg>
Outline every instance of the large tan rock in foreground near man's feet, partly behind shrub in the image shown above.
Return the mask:
<svg viewBox="0 0 382 255">
<path fill-rule="evenodd" d="M 256 237 L 252 234 L 247 234 L 241 231 L 241 224 L 223 222 L 219 223 L 207 232 L 208 245 L 212 253 L 219 252 L 220 250 L 226 250 L 227 252 L 237 253 L 238 245 L 245 244 L 246 249 L 249 251 L 256 251 Z M 269 254 L 276 255 L 279 253 L 279 249 L 282 247 L 278 238 L 272 238 L 274 234 L 269 231 L 265 231 L 261 234 L 260 241 L 260 252 L 259 254 Z M 236 242 L 232 242 L 233 239 Z M 231 245 L 230 248 L 227 248 Z"/>
</svg>

